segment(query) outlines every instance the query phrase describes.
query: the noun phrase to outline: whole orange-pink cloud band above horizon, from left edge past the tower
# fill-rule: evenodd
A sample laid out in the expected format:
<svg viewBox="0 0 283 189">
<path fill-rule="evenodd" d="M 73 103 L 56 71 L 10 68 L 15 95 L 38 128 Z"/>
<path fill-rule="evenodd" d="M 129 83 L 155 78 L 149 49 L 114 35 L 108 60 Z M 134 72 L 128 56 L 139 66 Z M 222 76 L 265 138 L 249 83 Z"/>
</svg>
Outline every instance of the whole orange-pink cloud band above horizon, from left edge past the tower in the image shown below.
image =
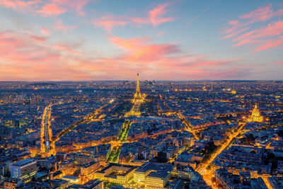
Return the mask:
<svg viewBox="0 0 283 189">
<path fill-rule="evenodd" d="M 0 32 L 1 81 L 133 79 L 139 67 L 146 79 L 231 79 L 250 74 L 235 59 L 190 55 L 175 44 L 150 38 L 118 38 L 110 42 L 125 52 L 116 57 L 89 57 L 78 45 L 50 43 L 48 37 L 11 30 Z M 158 76 L 158 78 L 156 78 Z"/>
</svg>

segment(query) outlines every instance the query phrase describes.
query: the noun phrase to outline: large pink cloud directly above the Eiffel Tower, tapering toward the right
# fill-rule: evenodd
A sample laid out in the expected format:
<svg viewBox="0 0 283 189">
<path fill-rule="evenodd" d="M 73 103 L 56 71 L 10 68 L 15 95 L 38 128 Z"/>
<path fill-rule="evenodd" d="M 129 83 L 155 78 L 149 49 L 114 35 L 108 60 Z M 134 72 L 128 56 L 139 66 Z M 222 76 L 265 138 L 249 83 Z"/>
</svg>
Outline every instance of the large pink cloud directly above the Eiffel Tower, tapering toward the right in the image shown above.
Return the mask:
<svg viewBox="0 0 283 189">
<path fill-rule="evenodd" d="M 213 60 L 201 55 L 187 55 L 180 50 L 178 45 L 152 44 L 150 38 L 123 39 L 111 35 L 108 38 L 112 44 L 125 50 L 126 53 L 119 57 L 105 59 L 106 62 L 127 65 L 133 71 L 138 66 L 140 70 L 149 74 L 149 77 L 150 74 L 158 74 L 159 76 L 166 76 L 162 79 L 171 79 L 170 77 L 174 76 L 173 80 L 184 79 L 187 76 L 190 76 L 190 79 L 214 79 L 217 77 L 224 79 L 229 78 L 229 76 L 233 77 L 233 74 L 235 77 L 240 74 L 246 75 L 249 70 L 246 69 L 245 71 L 245 69 L 236 67 L 235 63 L 240 59 Z M 223 77 L 217 74 L 231 70 L 237 71 L 227 72 Z"/>
</svg>

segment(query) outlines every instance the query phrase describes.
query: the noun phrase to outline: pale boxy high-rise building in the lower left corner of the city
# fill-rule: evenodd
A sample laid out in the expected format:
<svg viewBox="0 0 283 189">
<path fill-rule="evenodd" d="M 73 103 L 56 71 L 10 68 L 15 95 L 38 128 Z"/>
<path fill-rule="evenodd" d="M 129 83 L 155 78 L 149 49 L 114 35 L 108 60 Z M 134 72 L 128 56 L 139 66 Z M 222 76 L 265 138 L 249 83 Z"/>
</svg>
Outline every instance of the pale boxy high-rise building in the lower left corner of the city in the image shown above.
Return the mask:
<svg viewBox="0 0 283 189">
<path fill-rule="evenodd" d="M 11 165 L 11 178 L 18 178 L 25 183 L 31 181 L 37 172 L 34 159 L 23 159 Z"/>
</svg>

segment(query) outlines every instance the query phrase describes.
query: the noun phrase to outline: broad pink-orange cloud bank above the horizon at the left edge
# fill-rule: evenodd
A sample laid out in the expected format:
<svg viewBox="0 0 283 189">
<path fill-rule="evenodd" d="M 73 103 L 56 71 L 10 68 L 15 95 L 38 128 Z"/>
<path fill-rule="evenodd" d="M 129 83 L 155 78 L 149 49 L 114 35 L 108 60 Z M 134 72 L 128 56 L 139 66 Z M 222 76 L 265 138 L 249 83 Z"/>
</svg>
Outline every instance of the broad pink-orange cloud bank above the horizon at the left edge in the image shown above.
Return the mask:
<svg viewBox="0 0 283 189">
<path fill-rule="evenodd" d="M 83 59 L 70 56 L 76 55 L 71 46 L 47 41 L 48 38 L 28 33 L 0 32 L 0 69 L 3 70 L 0 80 L 66 80 L 90 76 L 69 65 L 68 62 L 83 64 Z"/>
</svg>

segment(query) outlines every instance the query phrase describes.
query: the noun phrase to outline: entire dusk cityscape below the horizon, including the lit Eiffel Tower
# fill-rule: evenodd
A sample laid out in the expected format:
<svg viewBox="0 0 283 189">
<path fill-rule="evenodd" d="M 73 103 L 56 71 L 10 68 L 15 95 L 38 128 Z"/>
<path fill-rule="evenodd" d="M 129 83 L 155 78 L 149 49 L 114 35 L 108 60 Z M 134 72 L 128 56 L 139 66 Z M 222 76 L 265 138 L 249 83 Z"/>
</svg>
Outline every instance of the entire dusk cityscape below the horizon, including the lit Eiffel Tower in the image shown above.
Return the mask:
<svg viewBox="0 0 283 189">
<path fill-rule="evenodd" d="M 279 90 L 278 90 L 279 89 Z M 281 188 L 283 83 L 2 82 L 4 188 Z"/>
</svg>

